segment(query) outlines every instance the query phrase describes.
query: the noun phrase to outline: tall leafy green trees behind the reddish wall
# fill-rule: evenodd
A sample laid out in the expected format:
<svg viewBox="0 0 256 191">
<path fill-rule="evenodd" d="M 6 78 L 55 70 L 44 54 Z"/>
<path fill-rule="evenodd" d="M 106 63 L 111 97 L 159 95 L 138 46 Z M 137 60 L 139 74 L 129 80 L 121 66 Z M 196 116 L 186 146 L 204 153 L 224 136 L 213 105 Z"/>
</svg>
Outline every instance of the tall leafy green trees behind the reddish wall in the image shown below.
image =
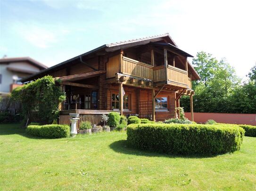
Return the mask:
<svg viewBox="0 0 256 191">
<path fill-rule="evenodd" d="M 256 113 L 256 66 L 248 74 L 249 81 L 241 83 L 225 59 L 217 61 L 211 54 L 200 52 L 192 63 L 201 76 L 201 80 L 193 82 L 194 112 Z M 189 112 L 189 97 L 182 96 L 180 102 Z"/>
</svg>

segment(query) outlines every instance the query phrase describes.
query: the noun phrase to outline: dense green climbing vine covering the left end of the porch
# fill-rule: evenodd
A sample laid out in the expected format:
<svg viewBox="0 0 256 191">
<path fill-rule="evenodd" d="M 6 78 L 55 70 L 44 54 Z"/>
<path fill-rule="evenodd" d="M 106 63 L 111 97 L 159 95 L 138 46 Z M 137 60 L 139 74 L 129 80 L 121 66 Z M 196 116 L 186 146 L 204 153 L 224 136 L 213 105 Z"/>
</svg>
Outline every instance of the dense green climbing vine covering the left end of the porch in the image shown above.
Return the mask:
<svg viewBox="0 0 256 191">
<path fill-rule="evenodd" d="M 52 76 L 44 76 L 22 87 L 11 95 L 22 105 L 24 118 L 33 118 L 41 123 L 52 123 L 58 117 L 58 105 L 66 99 L 60 90 L 59 81 Z"/>
</svg>

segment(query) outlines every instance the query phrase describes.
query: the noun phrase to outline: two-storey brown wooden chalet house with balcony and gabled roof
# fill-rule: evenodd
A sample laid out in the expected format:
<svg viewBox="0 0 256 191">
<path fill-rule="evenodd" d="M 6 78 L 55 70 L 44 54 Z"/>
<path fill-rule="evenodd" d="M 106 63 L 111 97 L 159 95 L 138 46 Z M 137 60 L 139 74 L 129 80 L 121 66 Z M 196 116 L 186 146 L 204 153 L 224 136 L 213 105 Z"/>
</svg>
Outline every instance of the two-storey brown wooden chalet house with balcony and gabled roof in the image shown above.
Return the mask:
<svg viewBox="0 0 256 191">
<path fill-rule="evenodd" d="M 45 75 L 61 80 L 66 101 L 60 124 L 69 124 L 69 113 L 98 124 L 112 111 L 163 121 L 177 116 L 182 95 L 190 96 L 193 119 L 191 81 L 200 77 L 187 57 L 167 33 L 99 46 L 23 81 Z"/>
</svg>

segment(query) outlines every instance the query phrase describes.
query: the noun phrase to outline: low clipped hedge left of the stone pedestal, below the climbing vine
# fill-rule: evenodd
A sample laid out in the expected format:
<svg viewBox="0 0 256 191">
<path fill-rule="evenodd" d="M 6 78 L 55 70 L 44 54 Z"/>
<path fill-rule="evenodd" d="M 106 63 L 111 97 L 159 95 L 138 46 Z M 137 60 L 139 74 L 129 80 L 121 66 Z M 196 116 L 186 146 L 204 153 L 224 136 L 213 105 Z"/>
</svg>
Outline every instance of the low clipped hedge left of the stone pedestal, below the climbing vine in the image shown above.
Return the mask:
<svg viewBox="0 0 256 191">
<path fill-rule="evenodd" d="M 29 125 L 28 134 L 43 138 L 66 138 L 70 136 L 69 125 Z"/>
</svg>

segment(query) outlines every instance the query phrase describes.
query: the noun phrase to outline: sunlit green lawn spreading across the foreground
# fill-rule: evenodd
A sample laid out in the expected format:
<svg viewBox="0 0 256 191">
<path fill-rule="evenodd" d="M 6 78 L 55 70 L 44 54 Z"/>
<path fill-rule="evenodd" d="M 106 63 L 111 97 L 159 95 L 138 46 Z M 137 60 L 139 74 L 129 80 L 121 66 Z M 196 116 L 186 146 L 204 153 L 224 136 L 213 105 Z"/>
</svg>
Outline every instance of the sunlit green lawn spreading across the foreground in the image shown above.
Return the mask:
<svg viewBox="0 0 256 191">
<path fill-rule="evenodd" d="M 0 190 L 256 190 L 256 138 L 218 156 L 174 156 L 126 145 L 124 132 L 41 139 L 0 124 Z"/>
</svg>

